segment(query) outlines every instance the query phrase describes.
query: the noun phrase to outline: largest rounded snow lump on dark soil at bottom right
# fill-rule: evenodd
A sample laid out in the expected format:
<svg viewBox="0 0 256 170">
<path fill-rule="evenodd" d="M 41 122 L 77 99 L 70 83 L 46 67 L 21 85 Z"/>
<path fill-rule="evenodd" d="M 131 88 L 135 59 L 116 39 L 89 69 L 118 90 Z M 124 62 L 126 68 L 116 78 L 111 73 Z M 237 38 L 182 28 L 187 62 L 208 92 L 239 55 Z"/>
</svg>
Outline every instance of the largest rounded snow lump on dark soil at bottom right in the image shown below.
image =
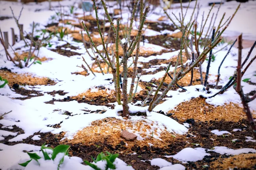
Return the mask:
<svg viewBox="0 0 256 170">
<path fill-rule="evenodd" d="M 207 154 L 207 153 L 205 153 L 205 151 L 202 151 L 202 150 L 196 150 L 193 148 L 185 148 L 185 149 L 181 150 L 179 153 L 177 153 L 176 155 L 165 156 L 165 157 L 167 157 L 167 158 L 172 157 L 172 158 L 177 159 L 182 162 L 188 162 L 188 161 L 196 162 L 196 161 L 202 160 L 204 158 L 204 156 L 206 156 L 206 155 L 209 156 L 210 154 Z"/>
</svg>

